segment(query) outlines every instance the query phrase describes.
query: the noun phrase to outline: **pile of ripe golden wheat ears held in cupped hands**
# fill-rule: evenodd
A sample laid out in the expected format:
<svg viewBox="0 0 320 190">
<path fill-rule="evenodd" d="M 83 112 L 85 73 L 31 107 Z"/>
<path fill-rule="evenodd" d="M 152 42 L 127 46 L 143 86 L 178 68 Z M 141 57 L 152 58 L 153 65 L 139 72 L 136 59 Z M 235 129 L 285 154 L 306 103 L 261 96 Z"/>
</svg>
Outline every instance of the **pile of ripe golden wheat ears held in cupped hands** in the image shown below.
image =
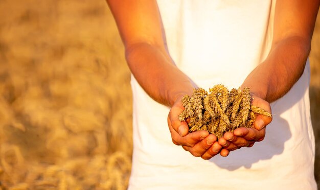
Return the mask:
<svg viewBox="0 0 320 190">
<path fill-rule="evenodd" d="M 227 131 L 234 131 L 238 127 L 252 127 L 257 114 L 272 117 L 272 115 L 250 102 L 250 89 L 228 89 L 222 85 L 215 85 L 209 93 L 202 88 L 193 90 L 191 97 L 185 95 L 182 105 L 185 110 L 179 115 L 179 120 L 188 123 L 189 131 L 208 130 L 218 138 Z"/>
</svg>

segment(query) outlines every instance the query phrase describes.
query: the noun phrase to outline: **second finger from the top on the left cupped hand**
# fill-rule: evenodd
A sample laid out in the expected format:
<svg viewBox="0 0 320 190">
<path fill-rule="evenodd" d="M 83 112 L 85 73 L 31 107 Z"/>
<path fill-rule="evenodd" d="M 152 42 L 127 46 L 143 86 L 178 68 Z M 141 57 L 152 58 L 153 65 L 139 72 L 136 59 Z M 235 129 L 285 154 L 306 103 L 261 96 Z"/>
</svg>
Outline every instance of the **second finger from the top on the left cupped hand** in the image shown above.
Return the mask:
<svg viewBox="0 0 320 190">
<path fill-rule="evenodd" d="M 216 140 L 217 137 L 210 134 L 193 147 L 184 147 L 184 149 L 189 151 L 193 156 L 200 157 L 214 144 Z"/>
</svg>

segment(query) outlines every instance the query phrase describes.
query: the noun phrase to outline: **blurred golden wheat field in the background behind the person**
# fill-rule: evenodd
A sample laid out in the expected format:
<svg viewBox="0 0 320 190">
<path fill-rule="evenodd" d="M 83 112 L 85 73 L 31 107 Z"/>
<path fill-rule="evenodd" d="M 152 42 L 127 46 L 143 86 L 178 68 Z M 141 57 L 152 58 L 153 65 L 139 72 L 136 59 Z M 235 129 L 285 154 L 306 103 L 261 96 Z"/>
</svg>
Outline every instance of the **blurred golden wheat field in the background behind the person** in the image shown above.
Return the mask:
<svg viewBox="0 0 320 190">
<path fill-rule="evenodd" d="M 320 18 L 310 55 L 320 183 Z M 104 1 L 0 1 L 0 189 L 125 189 L 131 89 Z"/>
</svg>

